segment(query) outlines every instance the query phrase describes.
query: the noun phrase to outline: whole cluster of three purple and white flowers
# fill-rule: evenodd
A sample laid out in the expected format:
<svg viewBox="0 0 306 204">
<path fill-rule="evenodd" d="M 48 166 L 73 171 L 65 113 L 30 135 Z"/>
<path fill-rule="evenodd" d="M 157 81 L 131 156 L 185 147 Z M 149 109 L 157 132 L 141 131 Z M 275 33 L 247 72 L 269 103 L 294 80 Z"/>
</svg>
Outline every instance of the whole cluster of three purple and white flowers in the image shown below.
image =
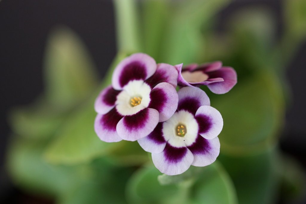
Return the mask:
<svg viewBox="0 0 306 204">
<path fill-rule="evenodd" d="M 95 101 L 95 132 L 105 142 L 137 140 L 167 175 L 209 165 L 219 155 L 223 120 L 198 86 L 223 94 L 236 83 L 234 69 L 219 61 L 182 68 L 132 54 L 117 65 L 112 85 Z"/>
</svg>

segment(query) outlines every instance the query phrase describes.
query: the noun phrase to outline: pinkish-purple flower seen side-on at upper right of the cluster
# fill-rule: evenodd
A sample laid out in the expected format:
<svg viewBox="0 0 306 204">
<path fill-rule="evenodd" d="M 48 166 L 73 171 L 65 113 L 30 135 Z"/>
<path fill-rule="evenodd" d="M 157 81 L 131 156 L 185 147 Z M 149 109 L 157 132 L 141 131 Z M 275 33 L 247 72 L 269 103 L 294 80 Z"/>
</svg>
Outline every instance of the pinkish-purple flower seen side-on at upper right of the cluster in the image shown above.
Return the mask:
<svg viewBox="0 0 306 204">
<path fill-rule="evenodd" d="M 215 94 L 225 94 L 237 83 L 237 73 L 232 67 L 222 67 L 221 61 L 197 65 L 176 65 L 177 84 L 185 86 L 206 85 Z"/>
</svg>

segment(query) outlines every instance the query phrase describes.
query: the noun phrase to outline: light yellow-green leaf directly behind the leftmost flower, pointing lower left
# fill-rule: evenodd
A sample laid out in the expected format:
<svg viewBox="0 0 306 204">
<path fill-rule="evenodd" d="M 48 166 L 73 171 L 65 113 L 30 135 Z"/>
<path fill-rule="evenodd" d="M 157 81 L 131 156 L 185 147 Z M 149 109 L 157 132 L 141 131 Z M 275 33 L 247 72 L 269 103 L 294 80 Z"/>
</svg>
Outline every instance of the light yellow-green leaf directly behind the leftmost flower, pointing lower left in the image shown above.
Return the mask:
<svg viewBox="0 0 306 204">
<path fill-rule="evenodd" d="M 114 59 L 101 88 L 110 84 L 115 65 L 125 56 L 126 54 L 119 53 Z M 94 131 L 94 121 L 97 115 L 94 110 L 94 101 L 100 91 L 101 89 L 92 95 L 85 104 L 77 107 L 64 121 L 62 128 L 46 149 L 45 157 L 48 161 L 69 165 L 86 163 L 97 156 L 107 154 L 118 146 L 117 143 L 101 141 Z"/>
</svg>

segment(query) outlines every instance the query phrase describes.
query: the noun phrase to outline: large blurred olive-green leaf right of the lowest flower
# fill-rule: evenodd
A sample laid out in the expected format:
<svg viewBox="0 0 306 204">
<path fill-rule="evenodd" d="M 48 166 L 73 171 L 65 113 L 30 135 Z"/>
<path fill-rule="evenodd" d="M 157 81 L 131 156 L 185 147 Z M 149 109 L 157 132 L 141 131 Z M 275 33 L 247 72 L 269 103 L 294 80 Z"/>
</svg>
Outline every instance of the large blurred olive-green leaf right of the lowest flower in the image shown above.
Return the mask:
<svg viewBox="0 0 306 204">
<path fill-rule="evenodd" d="M 274 143 L 283 123 L 281 85 L 269 71 L 238 80 L 228 94 L 211 98 L 211 105 L 220 111 L 224 121 L 218 136 L 222 153 L 239 155 L 262 151 Z"/>
</svg>

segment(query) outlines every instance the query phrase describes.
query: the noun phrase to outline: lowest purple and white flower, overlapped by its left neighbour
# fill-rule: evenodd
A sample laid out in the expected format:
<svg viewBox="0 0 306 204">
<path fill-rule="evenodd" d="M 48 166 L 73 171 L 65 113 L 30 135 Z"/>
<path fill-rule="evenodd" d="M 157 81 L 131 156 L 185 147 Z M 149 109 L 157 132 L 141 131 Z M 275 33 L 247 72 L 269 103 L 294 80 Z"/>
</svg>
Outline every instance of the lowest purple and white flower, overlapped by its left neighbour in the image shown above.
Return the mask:
<svg viewBox="0 0 306 204">
<path fill-rule="evenodd" d="M 151 134 L 138 139 L 140 146 L 152 153 L 156 168 L 167 175 L 181 174 L 190 165 L 209 165 L 220 152 L 217 136 L 223 119 L 210 106 L 206 93 L 198 87 L 183 87 L 178 98 L 174 115 L 160 122 Z"/>
</svg>

